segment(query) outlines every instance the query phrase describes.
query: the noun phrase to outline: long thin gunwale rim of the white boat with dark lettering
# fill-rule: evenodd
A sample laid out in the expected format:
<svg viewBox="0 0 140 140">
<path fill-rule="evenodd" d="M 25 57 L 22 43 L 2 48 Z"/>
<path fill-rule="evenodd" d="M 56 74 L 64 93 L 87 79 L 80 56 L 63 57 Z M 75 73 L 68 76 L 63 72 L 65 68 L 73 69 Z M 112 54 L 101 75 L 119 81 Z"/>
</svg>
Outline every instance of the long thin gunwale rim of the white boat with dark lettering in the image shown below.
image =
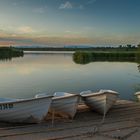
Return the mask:
<svg viewBox="0 0 140 140">
<path fill-rule="evenodd" d="M 29 98 L 29 99 L 17 99 L 15 101 L 4 101 L 4 102 L 0 102 L 0 105 L 1 104 L 14 104 L 14 103 L 24 103 L 24 102 L 30 102 L 30 101 L 36 101 L 36 100 L 42 100 L 44 98 L 52 98 L 53 95 L 49 95 L 49 96 L 45 96 L 45 97 L 38 97 L 38 98 Z"/>
</svg>

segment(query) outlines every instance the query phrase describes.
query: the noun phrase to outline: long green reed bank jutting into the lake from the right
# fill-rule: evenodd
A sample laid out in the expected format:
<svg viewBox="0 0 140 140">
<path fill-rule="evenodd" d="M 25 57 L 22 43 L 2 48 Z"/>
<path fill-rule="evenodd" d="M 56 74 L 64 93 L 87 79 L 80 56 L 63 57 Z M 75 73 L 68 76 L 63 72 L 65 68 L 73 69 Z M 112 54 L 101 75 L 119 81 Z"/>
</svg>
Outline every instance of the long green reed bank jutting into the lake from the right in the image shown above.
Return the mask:
<svg viewBox="0 0 140 140">
<path fill-rule="evenodd" d="M 95 61 L 131 61 L 140 63 L 139 51 L 113 51 L 113 52 L 91 52 L 76 51 L 73 60 L 78 64 L 87 64 Z"/>
</svg>

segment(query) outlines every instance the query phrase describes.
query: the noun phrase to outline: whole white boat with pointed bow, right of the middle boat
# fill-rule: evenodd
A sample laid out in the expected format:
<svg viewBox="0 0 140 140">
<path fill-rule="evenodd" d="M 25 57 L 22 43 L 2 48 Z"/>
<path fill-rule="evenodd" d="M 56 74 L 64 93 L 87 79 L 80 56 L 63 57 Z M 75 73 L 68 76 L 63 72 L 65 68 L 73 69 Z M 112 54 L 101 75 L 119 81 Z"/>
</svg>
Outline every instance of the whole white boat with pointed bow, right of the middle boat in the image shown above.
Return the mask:
<svg viewBox="0 0 140 140">
<path fill-rule="evenodd" d="M 80 93 L 85 103 L 93 110 L 105 115 L 118 98 L 118 93 L 112 90 L 100 90 L 97 93 L 83 91 Z"/>
</svg>

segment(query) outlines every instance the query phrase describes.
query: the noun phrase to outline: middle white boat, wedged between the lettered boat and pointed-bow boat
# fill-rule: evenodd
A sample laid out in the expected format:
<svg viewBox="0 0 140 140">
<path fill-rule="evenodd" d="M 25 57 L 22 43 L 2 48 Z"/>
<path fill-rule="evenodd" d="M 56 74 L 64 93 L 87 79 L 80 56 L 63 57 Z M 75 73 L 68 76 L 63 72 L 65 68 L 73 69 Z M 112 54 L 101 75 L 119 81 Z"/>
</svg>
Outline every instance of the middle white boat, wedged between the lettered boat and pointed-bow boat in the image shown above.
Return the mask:
<svg viewBox="0 0 140 140">
<path fill-rule="evenodd" d="M 79 95 L 66 93 L 66 92 L 55 92 L 52 98 L 52 110 L 59 115 L 66 115 L 73 118 L 76 114 L 77 106 L 79 102 Z"/>
</svg>

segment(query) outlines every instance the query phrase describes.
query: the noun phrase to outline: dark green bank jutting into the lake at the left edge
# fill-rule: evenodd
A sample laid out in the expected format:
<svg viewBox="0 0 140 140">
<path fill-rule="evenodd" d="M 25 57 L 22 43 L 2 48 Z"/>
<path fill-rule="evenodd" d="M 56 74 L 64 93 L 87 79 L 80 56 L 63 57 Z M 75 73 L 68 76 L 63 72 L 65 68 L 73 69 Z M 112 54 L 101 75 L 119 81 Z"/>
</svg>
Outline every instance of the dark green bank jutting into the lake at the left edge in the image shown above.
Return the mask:
<svg viewBox="0 0 140 140">
<path fill-rule="evenodd" d="M 13 57 L 23 56 L 22 50 L 13 47 L 0 47 L 0 59 L 1 60 L 11 60 Z"/>
</svg>

